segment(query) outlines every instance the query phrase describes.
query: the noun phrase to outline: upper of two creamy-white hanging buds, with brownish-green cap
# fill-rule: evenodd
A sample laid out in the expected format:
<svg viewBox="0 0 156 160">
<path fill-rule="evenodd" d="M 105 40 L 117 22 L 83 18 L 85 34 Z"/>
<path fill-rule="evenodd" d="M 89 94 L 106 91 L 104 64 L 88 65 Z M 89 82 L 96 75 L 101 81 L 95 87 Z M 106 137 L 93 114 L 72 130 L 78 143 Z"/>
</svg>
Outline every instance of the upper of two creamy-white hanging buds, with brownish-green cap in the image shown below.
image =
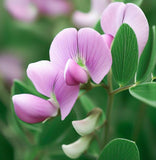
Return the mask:
<svg viewBox="0 0 156 160">
<path fill-rule="evenodd" d="M 87 118 L 83 120 L 72 121 L 72 125 L 79 135 L 88 135 L 94 132 L 94 130 L 97 128 L 100 115 L 102 115 L 101 109 L 95 108 L 89 113 Z"/>
</svg>

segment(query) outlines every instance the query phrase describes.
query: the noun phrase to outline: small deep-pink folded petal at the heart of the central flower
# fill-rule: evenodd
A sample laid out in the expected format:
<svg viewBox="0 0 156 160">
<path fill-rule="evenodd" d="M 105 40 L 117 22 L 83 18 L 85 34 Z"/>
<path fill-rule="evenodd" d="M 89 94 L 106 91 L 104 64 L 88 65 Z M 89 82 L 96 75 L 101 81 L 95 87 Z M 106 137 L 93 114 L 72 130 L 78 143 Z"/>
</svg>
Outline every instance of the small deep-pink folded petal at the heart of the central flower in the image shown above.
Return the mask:
<svg viewBox="0 0 156 160">
<path fill-rule="evenodd" d="M 80 83 L 87 83 L 88 75 L 86 71 L 80 67 L 75 61 L 69 59 L 67 61 L 64 78 L 67 85 L 79 85 Z"/>
</svg>

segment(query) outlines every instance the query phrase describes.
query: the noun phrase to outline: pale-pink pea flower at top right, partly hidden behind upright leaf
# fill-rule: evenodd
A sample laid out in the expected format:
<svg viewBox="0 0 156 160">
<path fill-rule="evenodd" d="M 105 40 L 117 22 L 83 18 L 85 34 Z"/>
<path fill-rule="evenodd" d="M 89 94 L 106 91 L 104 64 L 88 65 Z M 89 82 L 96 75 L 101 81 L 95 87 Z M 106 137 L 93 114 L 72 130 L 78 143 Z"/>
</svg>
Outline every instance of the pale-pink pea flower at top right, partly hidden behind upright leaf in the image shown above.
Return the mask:
<svg viewBox="0 0 156 160">
<path fill-rule="evenodd" d="M 132 3 L 111 3 L 104 10 L 101 18 L 101 27 L 104 33 L 114 38 L 123 23 L 127 23 L 134 30 L 138 41 L 139 55 L 141 55 L 149 35 L 149 25 L 143 11 Z"/>
</svg>

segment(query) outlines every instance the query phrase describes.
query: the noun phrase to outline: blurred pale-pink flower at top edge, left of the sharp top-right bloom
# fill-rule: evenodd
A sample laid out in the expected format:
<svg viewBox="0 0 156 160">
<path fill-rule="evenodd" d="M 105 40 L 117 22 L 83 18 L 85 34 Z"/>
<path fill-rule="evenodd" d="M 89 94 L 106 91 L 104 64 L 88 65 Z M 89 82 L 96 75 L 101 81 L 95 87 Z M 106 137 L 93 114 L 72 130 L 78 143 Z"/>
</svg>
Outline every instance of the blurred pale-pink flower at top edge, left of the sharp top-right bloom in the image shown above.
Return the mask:
<svg viewBox="0 0 156 160">
<path fill-rule="evenodd" d="M 111 0 L 91 0 L 91 9 L 88 13 L 75 11 L 73 22 L 78 27 L 93 27 L 100 19 L 103 10 Z"/>
</svg>

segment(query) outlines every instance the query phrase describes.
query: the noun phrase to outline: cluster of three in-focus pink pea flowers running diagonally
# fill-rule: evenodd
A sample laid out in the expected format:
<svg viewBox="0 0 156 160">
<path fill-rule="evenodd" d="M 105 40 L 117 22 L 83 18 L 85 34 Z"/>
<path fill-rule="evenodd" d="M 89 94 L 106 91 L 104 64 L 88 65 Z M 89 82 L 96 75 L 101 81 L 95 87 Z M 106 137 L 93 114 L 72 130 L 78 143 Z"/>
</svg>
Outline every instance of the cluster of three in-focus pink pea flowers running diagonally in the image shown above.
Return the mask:
<svg viewBox="0 0 156 160">
<path fill-rule="evenodd" d="M 64 29 L 50 47 L 50 61 L 28 66 L 27 75 L 45 100 L 30 94 L 13 96 L 15 112 L 28 123 L 44 121 L 57 115 L 62 120 L 70 113 L 79 94 L 80 84 L 90 79 L 99 84 L 112 65 L 111 44 L 117 30 L 127 23 L 135 32 L 139 54 L 148 39 L 149 27 L 144 13 L 134 4 L 112 3 L 103 12 L 104 35 L 91 28 Z"/>
</svg>

